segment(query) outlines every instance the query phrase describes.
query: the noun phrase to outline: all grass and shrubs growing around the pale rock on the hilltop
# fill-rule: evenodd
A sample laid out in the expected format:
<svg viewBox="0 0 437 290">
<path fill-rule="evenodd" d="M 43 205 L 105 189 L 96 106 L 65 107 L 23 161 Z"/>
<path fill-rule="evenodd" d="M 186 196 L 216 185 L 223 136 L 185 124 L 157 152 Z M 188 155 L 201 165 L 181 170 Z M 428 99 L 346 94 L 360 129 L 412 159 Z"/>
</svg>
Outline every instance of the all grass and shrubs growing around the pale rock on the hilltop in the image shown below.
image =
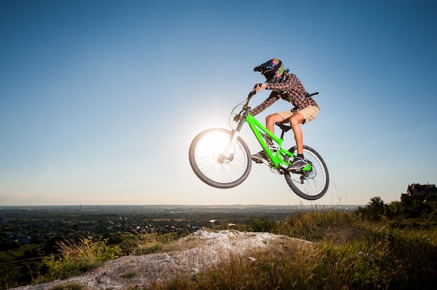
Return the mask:
<svg viewBox="0 0 437 290">
<path fill-rule="evenodd" d="M 218 263 L 195 275 L 181 273 L 165 282 L 154 280 L 147 287 L 126 289 L 435 289 L 436 208 L 432 198 L 425 202 L 385 204 L 374 197 L 356 211 L 301 211 L 282 220 L 253 217 L 245 224 L 225 228 L 269 232 L 310 241 L 311 245 L 280 239 L 264 250 L 218 259 Z M 214 231 L 220 229 L 216 227 Z M 171 254 L 180 250 L 175 247 L 179 237 L 171 233 L 143 231 L 133 238 L 132 254 Z M 85 242 L 66 245 L 60 260 L 55 257 L 51 262 L 47 260 L 52 278 L 77 275 L 81 268 L 88 270 L 100 265 L 79 267 L 77 264 L 83 261 L 69 261 L 71 268 L 59 264 L 54 267 L 75 247 L 84 248 Z M 97 251 L 94 256 L 114 254 L 111 247 L 103 244 L 97 247 L 106 247 L 106 252 Z M 99 260 L 96 258 L 93 261 Z M 126 281 L 141 275 L 129 273 L 124 277 Z M 50 275 L 35 282 L 47 281 Z M 50 289 L 89 289 L 77 283 L 60 287 Z"/>
</svg>

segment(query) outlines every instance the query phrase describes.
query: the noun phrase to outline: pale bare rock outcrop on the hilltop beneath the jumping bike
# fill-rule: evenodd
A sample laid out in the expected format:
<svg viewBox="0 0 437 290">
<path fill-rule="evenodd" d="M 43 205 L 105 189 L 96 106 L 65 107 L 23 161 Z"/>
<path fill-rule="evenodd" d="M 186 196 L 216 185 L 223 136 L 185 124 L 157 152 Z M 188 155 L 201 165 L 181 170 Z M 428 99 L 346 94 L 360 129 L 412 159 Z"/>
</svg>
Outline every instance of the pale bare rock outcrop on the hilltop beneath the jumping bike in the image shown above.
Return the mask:
<svg viewBox="0 0 437 290">
<path fill-rule="evenodd" d="M 258 248 L 274 245 L 274 241 L 291 239 L 269 233 L 241 231 L 196 231 L 179 239 L 175 250 L 142 256 L 124 256 L 83 275 L 46 284 L 28 285 L 15 290 L 45 290 L 75 282 L 84 289 L 133 289 L 163 282 L 177 275 L 195 275 L 201 270 L 230 259 L 232 254 L 246 255 Z M 297 240 L 297 243 L 309 243 Z"/>
</svg>

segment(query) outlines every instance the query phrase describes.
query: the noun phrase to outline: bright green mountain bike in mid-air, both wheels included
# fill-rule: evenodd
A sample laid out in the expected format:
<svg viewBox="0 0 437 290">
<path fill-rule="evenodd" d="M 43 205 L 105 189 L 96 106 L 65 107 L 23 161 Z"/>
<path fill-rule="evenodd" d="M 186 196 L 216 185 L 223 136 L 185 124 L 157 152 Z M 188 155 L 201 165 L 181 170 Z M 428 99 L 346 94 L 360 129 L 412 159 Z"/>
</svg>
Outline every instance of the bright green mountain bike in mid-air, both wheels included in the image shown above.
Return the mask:
<svg viewBox="0 0 437 290">
<path fill-rule="evenodd" d="M 281 137 L 276 137 L 254 116 L 251 115 L 249 102 L 255 91 L 248 98 L 234 107 L 230 114 L 231 121 L 237 123 L 236 128 L 211 128 L 200 132 L 191 142 L 188 159 L 191 168 L 201 181 L 214 188 L 233 188 L 246 180 L 251 171 L 252 160 L 249 147 L 239 136 L 244 123 L 249 124 L 253 134 L 267 155 L 262 163 L 275 174 L 283 174 L 293 192 L 308 200 L 323 197 L 329 186 L 329 173 L 325 161 L 313 148 L 304 146 L 307 162 L 302 169 L 288 170 L 288 165 L 297 155 L 296 146 L 286 150 L 282 148 L 283 136 L 291 129 L 284 123 L 276 123 L 281 128 Z M 313 93 L 309 96 L 313 96 Z M 238 114 L 235 114 L 242 109 Z M 232 118 L 233 116 L 233 118 Z"/>
</svg>

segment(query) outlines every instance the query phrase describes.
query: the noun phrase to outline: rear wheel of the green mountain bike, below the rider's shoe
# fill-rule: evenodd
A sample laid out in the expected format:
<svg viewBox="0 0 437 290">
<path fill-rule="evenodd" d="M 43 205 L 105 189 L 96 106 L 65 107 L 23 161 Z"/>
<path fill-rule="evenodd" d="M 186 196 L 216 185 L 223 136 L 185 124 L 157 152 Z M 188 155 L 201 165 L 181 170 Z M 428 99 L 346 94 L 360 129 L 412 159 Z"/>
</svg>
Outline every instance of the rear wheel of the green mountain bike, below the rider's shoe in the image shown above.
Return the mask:
<svg viewBox="0 0 437 290">
<path fill-rule="evenodd" d="M 293 146 L 288 151 L 297 155 L 297 148 Z M 311 162 L 310 171 L 286 171 L 284 176 L 292 191 L 299 197 L 316 200 L 323 197 L 329 186 L 329 173 L 325 161 L 309 146 L 304 146 L 304 157 Z M 284 158 L 288 162 L 288 155 Z"/>
</svg>

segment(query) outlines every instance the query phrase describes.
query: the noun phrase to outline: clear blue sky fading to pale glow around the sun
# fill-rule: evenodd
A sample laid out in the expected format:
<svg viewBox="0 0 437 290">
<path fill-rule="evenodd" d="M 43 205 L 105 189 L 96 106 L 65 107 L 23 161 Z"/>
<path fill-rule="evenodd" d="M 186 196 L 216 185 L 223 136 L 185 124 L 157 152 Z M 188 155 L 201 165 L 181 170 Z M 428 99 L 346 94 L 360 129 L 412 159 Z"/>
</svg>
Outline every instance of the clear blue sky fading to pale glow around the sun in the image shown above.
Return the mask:
<svg viewBox="0 0 437 290">
<path fill-rule="evenodd" d="M 435 1 L 2 0 L 0 204 L 399 200 L 437 182 L 436 13 Z M 320 92 L 302 127 L 331 176 L 318 201 L 264 165 L 218 190 L 188 162 L 193 137 L 229 128 L 272 58 Z"/>
</svg>

